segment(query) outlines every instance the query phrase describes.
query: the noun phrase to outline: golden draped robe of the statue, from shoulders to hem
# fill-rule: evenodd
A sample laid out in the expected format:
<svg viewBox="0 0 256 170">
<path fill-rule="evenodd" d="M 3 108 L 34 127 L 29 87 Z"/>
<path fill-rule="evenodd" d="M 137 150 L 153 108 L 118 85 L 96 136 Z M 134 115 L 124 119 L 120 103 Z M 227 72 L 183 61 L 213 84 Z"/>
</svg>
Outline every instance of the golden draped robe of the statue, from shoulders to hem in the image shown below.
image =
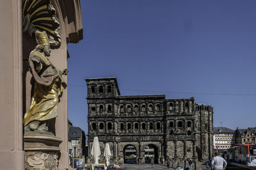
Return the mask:
<svg viewBox="0 0 256 170">
<path fill-rule="evenodd" d="M 62 92 L 61 76 L 43 53 L 33 50 L 29 55 L 29 67 L 35 78 L 35 89 L 24 125 L 34 120 L 44 121 L 58 115 L 59 96 Z"/>
</svg>

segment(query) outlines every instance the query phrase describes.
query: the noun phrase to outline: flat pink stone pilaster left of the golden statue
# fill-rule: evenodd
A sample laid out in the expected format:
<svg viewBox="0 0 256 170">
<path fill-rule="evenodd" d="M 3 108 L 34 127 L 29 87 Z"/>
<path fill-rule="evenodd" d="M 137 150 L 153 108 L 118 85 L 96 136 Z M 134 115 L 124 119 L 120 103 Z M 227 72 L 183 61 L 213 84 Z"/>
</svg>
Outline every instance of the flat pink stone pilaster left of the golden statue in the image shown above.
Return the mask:
<svg viewBox="0 0 256 170">
<path fill-rule="evenodd" d="M 22 27 L 21 1 L 0 6 L 0 169 L 24 169 L 22 148 Z"/>
</svg>

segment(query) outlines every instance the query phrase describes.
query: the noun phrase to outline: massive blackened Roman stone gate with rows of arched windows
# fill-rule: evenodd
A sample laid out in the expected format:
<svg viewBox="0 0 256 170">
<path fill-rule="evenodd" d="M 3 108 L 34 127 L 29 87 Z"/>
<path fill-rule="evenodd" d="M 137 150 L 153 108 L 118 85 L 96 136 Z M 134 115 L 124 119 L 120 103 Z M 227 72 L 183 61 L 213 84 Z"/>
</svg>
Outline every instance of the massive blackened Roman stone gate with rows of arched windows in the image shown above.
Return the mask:
<svg viewBox="0 0 256 170">
<path fill-rule="evenodd" d="M 99 138 L 101 157 L 109 143 L 112 162 L 155 163 L 170 159 L 180 164 L 196 162 L 213 154 L 211 106 L 189 99 L 166 99 L 164 95 L 121 96 L 116 78 L 88 78 L 88 162 L 92 162 L 93 138 Z M 173 165 L 175 166 L 175 165 Z"/>
</svg>

